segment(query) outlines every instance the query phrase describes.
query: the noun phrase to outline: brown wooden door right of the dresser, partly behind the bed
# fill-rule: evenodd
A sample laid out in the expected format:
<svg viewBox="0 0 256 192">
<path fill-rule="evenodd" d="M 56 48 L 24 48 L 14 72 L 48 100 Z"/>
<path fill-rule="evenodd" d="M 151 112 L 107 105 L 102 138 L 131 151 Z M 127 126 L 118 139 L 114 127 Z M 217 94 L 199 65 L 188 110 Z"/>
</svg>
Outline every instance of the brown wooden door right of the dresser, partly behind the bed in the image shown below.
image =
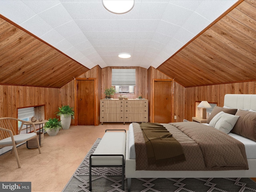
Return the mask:
<svg viewBox="0 0 256 192">
<path fill-rule="evenodd" d="M 172 122 L 172 81 L 154 80 L 153 122 Z"/>
</svg>

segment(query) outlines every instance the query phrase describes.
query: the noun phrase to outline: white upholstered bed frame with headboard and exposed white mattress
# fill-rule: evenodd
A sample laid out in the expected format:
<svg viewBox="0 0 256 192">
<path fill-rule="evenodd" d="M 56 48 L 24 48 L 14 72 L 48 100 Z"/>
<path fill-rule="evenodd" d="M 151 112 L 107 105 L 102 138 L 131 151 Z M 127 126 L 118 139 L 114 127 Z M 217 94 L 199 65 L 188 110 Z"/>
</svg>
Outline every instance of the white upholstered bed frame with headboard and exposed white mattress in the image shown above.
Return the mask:
<svg viewBox="0 0 256 192">
<path fill-rule="evenodd" d="M 226 94 L 224 96 L 224 106 L 225 110 L 227 109 L 239 109 L 240 113 L 253 113 L 256 112 L 256 95 L 253 94 Z M 223 109 L 222 108 L 222 109 Z M 241 110 L 243 109 L 243 110 Z M 238 113 L 238 110 L 237 112 Z M 225 113 L 226 114 L 226 113 Z M 234 114 L 236 115 L 236 114 Z M 215 115 L 217 116 L 217 115 Z M 236 115 L 238 116 L 238 115 Z M 240 116 L 241 117 L 241 116 Z M 239 118 L 240 118 L 239 117 Z M 216 118 L 216 117 L 215 117 Z M 238 118 L 238 119 L 239 119 Z M 212 118 L 213 119 L 213 118 Z M 241 118 L 242 120 L 242 118 Z M 211 124 L 204 124 L 206 128 Z M 197 122 L 190 122 L 198 124 Z M 238 124 L 238 120 L 237 120 Z M 245 133 L 249 134 L 251 139 L 236 134 L 236 132 L 230 132 L 228 135 L 239 140 L 244 144 L 246 159 L 248 163 L 248 169 L 243 170 L 136 170 L 136 157 L 132 154 L 131 144 L 134 140 L 130 131 L 127 133 L 126 139 L 126 160 L 125 160 L 125 176 L 128 180 L 128 190 L 131 186 L 131 178 L 225 178 L 225 177 L 256 177 L 256 130 L 255 130 L 256 119 L 254 119 L 254 129 L 252 132 Z M 130 129 L 131 128 L 131 129 Z M 130 124 L 129 130 L 133 131 L 132 124 Z M 214 128 L 212 128 L 214 129 Z M 233 128 L 234 129 L 234 128 Z M 233 130 L 232 129 L 232 130 Z M 253 135 L 252 135 L 253 134 Z M 129 135 L 131 138 L 129 138 Z M 243 133 L 242 133 L 243 135 Z"/>
</svg>

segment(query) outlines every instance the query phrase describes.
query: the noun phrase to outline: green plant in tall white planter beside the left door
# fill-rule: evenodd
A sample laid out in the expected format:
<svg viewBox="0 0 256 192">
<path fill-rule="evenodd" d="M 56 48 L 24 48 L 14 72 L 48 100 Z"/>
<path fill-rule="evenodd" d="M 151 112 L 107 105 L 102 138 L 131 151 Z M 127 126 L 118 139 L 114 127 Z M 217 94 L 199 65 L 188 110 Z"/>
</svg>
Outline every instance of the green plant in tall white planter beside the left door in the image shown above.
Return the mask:
<svg viewBox="0 0 256 192">
<path fill-rule="evenodd" d="M 56 114 L 57 116 L 60 116 L 62 129 L 69 129 L 72 116 L 74 116 L 73 108 L 68 105 L 62 105 L 61 108 L 59 107 L 59 111 L 56 112 Z"/>
</svg>

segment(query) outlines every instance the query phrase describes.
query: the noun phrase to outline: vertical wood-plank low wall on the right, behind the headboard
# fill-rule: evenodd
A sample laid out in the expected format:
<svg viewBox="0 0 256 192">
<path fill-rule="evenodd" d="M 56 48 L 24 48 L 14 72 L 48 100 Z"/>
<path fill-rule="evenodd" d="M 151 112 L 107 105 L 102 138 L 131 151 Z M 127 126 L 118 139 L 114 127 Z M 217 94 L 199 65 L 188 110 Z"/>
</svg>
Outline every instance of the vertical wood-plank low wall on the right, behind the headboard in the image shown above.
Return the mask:
<svg viewBox="0 0 256 192">
<path fill-rule="evenodd" d="M 225 94 L 256 94 L 256 81 L 186 88 L 186 119 L 192 121 L 195 116 L 196 101 L 215 102 L 222 107 Z"/>
</svg>

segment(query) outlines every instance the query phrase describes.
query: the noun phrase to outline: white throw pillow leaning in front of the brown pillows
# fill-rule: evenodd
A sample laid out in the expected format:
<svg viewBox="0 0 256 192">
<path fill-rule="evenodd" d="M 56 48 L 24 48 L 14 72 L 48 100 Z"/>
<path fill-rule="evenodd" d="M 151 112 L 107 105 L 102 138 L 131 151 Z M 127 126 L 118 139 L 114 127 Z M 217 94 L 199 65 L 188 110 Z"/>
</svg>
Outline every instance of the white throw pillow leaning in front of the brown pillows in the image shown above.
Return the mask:
<svg viewBox="0 0 256 192">
<path fill-rule="evenodd" d="M 239 116 L 221 111 L 212 118 L 209 126 L 228 134 L 236 124 L 238 118 Z"/>
</svg>

